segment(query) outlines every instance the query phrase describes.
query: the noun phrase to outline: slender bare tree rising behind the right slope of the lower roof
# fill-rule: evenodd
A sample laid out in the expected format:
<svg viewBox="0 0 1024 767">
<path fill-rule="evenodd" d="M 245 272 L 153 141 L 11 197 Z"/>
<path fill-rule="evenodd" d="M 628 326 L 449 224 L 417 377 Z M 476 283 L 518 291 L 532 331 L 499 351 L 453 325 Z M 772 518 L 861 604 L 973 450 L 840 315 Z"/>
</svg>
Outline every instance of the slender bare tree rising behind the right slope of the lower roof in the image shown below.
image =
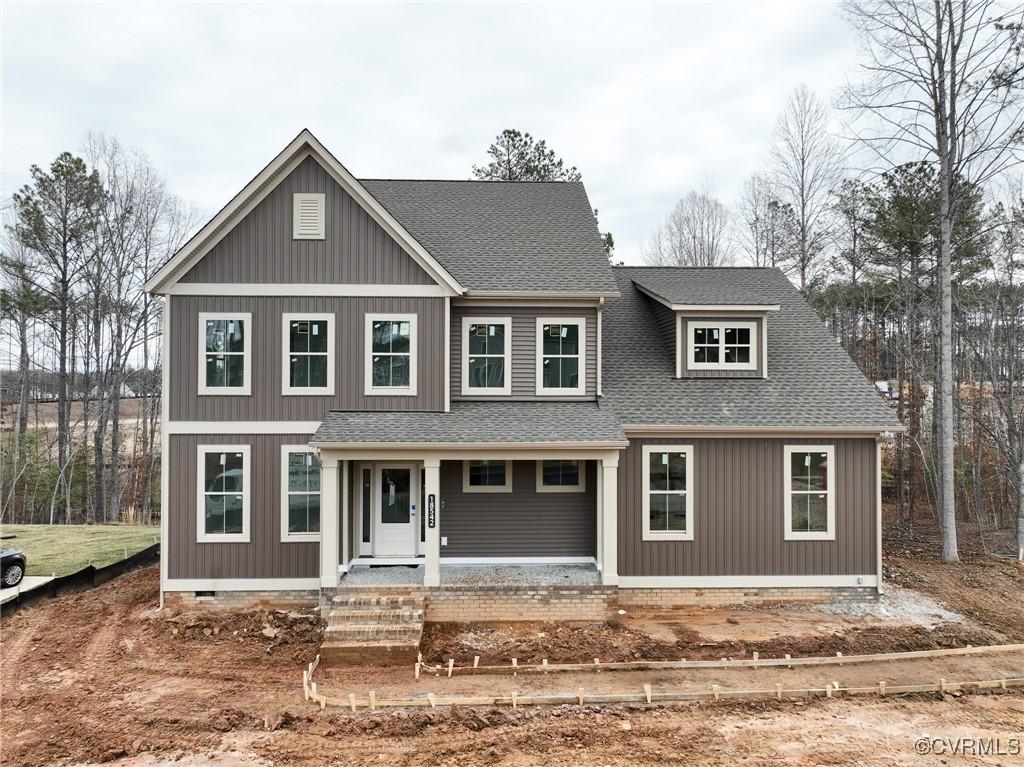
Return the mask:
<svg viewBox="0 0 1024 767">
<path fill-rule="evenodd" d="M 771 163 L 782 199 L 793 207 L 793 269 L 806 292 L 825 247 L 829 196 L 843 169 L 843 155 L 828 133 L 828 112 L 806 85 L 793 91 L 779 115 Z"/>
</svg>

